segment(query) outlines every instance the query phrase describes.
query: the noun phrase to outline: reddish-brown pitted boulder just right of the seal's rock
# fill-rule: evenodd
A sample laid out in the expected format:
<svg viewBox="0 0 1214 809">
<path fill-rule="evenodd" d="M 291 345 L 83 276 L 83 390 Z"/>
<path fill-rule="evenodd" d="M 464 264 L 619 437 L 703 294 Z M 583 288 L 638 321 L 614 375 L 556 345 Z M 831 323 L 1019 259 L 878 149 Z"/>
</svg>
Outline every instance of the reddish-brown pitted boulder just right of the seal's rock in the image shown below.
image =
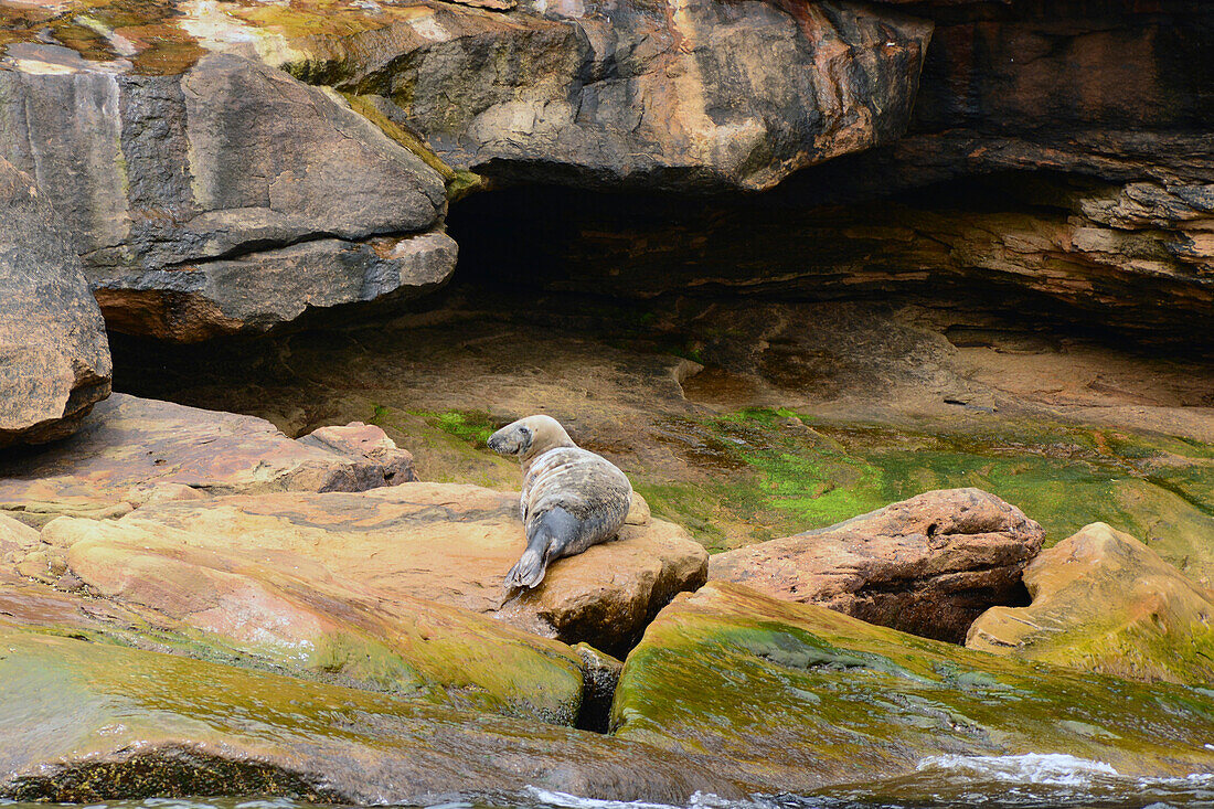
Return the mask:
<svg viewBox="0 0 1214 809">
<path fill-rule="evenodd" d="M 925 492 L 828 528 L 716 554 L 709 578 L 960 643 L 1015 600 L 1042 527 L 976 488 Z"/>
</svg>

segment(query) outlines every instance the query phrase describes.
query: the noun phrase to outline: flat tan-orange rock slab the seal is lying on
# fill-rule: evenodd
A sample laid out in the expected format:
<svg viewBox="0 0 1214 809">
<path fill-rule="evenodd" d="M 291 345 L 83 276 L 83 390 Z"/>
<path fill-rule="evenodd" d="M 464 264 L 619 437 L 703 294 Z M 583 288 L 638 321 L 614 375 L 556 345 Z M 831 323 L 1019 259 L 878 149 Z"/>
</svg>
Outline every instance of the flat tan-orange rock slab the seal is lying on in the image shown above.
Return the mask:
<svg viewBox="0 0 1214 809">
<path fill-rule="evenodd" d="M 518 498 L 443 483 L 168 502 L 117 521 L 56 520 L 42 538 L 85 583 L 119 600 L 159 605 L 208 632 L 251 621 L 239 629 L 244 643 L 261 637 L 251 627 L 291 612 L 278 601 L 306 601 L 311 588 L 396 616 L 435 601 L 622 654 L 676 593 L 704 582 L 708 566 L 707 551 L 682 528 L 651 519 L 555 562 L 543 587 L 503 602 L 503 576 L 526 544 Z M 274 594 L 232 573 L 270 582 Z M 282 576 L 310 584 L 279 583 Z M 209 617 L 210 600 L 223 593 L 232 606 Z M 253 621 L 256 604 L 274 599 Z M 278 634 L 289 644 L 295 632 Z"/>
</svg>

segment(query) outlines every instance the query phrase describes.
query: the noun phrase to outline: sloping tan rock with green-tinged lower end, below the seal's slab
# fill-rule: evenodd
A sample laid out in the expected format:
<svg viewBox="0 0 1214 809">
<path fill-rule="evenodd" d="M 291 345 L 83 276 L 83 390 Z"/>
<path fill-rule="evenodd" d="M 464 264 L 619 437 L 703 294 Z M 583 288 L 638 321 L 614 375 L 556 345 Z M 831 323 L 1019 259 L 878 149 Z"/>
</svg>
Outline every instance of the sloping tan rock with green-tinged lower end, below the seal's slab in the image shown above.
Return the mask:
<svg viewBox="0 0 1214 809">
<path fill-rule="evenodd" d="M 225 516 L 220 507 L 216 519 Z M 49 559 L 27 555 L 27 564 L 50 568 L 36 576 L 47 583 L 70 573 L 89 596 L 155 627 L 104 630 L 129 645 L 159 650 L 158 637 L 171 633 L 171 649 L 205 660 L 554 724 L 578 720 L 584 663 L 562 644 L 442 604 L 387 598 L 342 577 L 336 564 L 290 555 L 257 534 L 233 549 L 191 547 L 178 534 L 62 517 L 42 531 Z"/>
</svg>

